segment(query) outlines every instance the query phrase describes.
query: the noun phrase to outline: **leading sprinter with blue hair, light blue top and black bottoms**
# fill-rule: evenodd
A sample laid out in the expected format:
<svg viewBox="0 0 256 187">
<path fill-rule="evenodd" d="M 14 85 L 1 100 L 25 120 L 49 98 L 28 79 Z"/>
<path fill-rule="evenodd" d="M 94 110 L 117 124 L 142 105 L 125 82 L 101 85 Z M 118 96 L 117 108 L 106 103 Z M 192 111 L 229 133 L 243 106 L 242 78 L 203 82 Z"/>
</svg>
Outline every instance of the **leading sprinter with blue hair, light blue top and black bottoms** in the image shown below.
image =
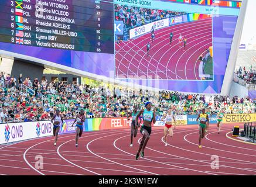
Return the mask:
<svg viewBox="0 0 256 187">
<path fill-rule="evenodd" d="M 146 147 L 146 144 L 148 143 L 148 140 L 150 138 L 151 134 L 151 123 L 156 123 L 156 115 L 155 115 L 155 109 L 152 112 L 152 103 L 146 102 L 145 104 L 146 109 L 142 109 L 139 111 L 138 115 L 136 116 L 136 123 L 138 123 L 139 116 L 143 115 L 143 124 L 141 126 L 141 134 L 142 134 L 142 140 L 141 144 L 139 145 L 139 150 L 136 154 L 136 160 L 139 159 L 139 153 L 141 152 L 141 157 L 144 157 L 144 149 Z"/>
</svg>

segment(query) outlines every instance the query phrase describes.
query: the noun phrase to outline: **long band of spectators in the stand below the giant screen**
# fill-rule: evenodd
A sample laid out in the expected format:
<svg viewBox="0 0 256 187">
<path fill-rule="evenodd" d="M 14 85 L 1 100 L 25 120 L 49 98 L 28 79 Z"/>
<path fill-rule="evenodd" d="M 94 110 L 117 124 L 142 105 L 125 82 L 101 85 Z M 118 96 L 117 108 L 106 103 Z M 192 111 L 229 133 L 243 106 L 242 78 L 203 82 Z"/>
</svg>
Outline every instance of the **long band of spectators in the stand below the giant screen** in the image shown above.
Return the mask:
<svg viewBox="0 0 256 187">
<path fill-rule="evenodd" d="M 26 85 L 30 91 L 21 88 Z M 0 75 L 0 123 L 50 119 L 56 109 L 60 109 L 64 119 L 73 119 L 79 110 L 86 111 L 86 117 L 122 117 L 132 112 L 134 107 L 143 108 L 151 101 L 156 115 L 162 115 L 172 108 L 176 115 L 196 115 L 202 108 L 211 113 L 254 113 L 256 100 L 249 98 L 229 98 L 228 96 L 187 95 L 179 92 L 153 92 L 110 88 L 106 85 L 64 84 L 58 79 L 52 82 L 33 81 L 9 74 Z"/>
</svg>

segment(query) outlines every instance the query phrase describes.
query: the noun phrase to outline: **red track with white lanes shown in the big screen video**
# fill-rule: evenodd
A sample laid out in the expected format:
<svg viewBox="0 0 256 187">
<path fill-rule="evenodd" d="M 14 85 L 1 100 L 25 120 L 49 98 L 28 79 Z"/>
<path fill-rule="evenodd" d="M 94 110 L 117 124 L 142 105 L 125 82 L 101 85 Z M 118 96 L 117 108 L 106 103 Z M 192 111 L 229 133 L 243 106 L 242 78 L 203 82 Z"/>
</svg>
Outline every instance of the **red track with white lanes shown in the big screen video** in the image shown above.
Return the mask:
<svg viewBox="0 0 256 187">
<path fill-rule="evenodd" d="M 169 44 L 173 32 L 172 46 Z M 179 48 L 179 34 L 187 37 L 186 51 Z M 115 44 L 115 74 L 117 78 L 190 79 L 199 78 L 199 56 L 212 46 L 211 18 L 165 27 L 155 31 L 155 40 L 145 34 L 121 44 Z M 149 56 L 146 44 L 151 42 Z"/>
</svg>

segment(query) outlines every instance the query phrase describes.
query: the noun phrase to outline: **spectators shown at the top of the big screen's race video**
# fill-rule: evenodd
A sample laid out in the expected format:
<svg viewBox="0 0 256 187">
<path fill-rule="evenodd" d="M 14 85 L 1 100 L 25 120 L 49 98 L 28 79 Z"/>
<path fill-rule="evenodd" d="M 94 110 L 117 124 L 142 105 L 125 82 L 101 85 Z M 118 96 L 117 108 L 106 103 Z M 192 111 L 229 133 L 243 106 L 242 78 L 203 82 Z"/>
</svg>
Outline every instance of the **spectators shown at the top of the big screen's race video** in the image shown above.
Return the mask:
<svg viewBox="0 0 256 187">
<path fill-rule="evenodd" d="M 115 20 L 122 20 L 126 27 L 138 27 L 146 23 L 173 15 L 180 15 L 182 12 L 161 11 L 156 9 L 139 8 L 115 4 Z"/>
</svg>

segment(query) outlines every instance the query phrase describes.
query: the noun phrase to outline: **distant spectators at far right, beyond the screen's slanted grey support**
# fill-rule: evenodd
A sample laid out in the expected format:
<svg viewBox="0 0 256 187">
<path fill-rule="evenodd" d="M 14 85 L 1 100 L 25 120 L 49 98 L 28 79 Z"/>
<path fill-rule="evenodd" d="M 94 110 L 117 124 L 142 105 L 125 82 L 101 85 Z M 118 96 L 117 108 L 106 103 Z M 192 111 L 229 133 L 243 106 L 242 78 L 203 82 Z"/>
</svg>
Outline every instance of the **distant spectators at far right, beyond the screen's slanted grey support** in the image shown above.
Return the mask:
<svg viewBox="0 0 256 187">
<path fill-rule="evenodd" d="M 252 70 L 252 66 L 250 70 L 246 70 L 245 67 L 239 67 L 238 71 L 235 72 L 235 75 L 243 79 L 247 84 L 256 84 L 256 71 Z"/>
</svg>

